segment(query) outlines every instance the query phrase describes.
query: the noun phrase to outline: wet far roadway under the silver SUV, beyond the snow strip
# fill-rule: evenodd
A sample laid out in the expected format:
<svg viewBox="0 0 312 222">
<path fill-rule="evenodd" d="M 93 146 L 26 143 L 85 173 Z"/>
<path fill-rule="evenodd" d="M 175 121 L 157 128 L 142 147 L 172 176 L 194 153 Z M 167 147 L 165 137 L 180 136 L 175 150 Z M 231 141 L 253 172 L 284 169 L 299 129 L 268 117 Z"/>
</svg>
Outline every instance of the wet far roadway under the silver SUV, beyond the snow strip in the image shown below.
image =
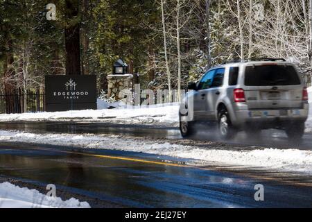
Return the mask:
<svg viewBox="0 0 312 222">
<path fill-rule="evenodd" d="M 230 141 L 218 137 L 215 126 L 198 124 L 198 132 L 191 137 L 194 141 L 223 142 L 242 146 L 263 146 L 275 148 L 298 148 L 312 150 L 312 135 L 304 135 L 302 141 L 291 142 L 281 130 L 262 130 L 261 135 L 239 133 Z M 38 133 L 94 133 L 107 135 L 128 135 L 151 139 L 182 139 L 180 130 L 164 126 L 143 126 L 114 123 L 78 123 L 78 122 L 0 122 L 0 130 L 24 130 Z"/>
</svg>

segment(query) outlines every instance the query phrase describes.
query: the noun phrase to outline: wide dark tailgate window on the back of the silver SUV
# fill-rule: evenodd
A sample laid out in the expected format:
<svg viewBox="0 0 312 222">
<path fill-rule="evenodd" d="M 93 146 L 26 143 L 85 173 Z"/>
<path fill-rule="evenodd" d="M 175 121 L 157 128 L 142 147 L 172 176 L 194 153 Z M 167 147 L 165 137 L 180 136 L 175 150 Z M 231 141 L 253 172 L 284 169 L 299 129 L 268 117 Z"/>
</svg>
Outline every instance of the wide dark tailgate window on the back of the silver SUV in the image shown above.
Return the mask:
<svg viewBox="0 0 312 222">
<path fill-rule="evenodd" d="M 300 85 L 300 78 L 291 65 L 248 66 L 245 69 L 245 85 Z"/>
</svg>

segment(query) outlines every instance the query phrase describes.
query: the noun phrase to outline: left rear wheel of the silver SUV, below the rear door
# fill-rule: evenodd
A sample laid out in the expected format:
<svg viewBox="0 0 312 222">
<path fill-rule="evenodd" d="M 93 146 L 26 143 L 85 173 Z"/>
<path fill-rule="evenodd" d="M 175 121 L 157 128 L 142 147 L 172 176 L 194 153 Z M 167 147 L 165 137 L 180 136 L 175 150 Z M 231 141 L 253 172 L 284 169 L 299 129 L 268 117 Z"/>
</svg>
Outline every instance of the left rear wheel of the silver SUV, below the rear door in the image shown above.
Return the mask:
<svg viewBox="0 0 312 222">
<path fill-rule="evenodd" d="M 232 139 L 237 133 L 226 108 L 222 108 L 218 112 L 218 131 L 222 139 Z"/>
</svg>

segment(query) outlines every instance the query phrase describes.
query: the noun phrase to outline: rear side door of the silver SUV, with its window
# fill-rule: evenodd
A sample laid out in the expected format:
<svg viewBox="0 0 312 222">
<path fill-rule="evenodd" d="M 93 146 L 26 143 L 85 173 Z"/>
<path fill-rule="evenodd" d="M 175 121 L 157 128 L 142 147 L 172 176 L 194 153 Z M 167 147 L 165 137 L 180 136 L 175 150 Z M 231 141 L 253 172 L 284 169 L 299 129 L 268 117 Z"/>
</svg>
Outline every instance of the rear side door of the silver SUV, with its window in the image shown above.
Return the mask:
<svg viewBox="0 0 312 222">
<path fill-rule="evenodd" d="M 216 115 L 216 103 L 220 97 L 220 87 L 223 86 L 225 68 L 216 69 L 211 81 L 211 86 L 207 89 L 206 112 L 207 119 L 214 120 Z"/>
</svg>

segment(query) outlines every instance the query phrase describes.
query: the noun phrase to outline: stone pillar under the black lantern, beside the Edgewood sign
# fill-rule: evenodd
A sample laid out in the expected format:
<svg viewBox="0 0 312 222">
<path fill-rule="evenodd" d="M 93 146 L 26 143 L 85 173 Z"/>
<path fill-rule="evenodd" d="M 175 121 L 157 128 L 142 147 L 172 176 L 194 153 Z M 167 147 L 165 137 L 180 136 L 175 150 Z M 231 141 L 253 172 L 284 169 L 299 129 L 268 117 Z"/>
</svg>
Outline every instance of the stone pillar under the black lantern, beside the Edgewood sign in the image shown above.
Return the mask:
<svg viewBox="0 0 312 222">
<path fill-rule="evenodd" d="M 107 75 L 108 80 L 108 98 L 114 97 L 119 101 L 119 93 L 124 89 L 132 90 L 132 74 L 125 75 Z"/>
</svg>

